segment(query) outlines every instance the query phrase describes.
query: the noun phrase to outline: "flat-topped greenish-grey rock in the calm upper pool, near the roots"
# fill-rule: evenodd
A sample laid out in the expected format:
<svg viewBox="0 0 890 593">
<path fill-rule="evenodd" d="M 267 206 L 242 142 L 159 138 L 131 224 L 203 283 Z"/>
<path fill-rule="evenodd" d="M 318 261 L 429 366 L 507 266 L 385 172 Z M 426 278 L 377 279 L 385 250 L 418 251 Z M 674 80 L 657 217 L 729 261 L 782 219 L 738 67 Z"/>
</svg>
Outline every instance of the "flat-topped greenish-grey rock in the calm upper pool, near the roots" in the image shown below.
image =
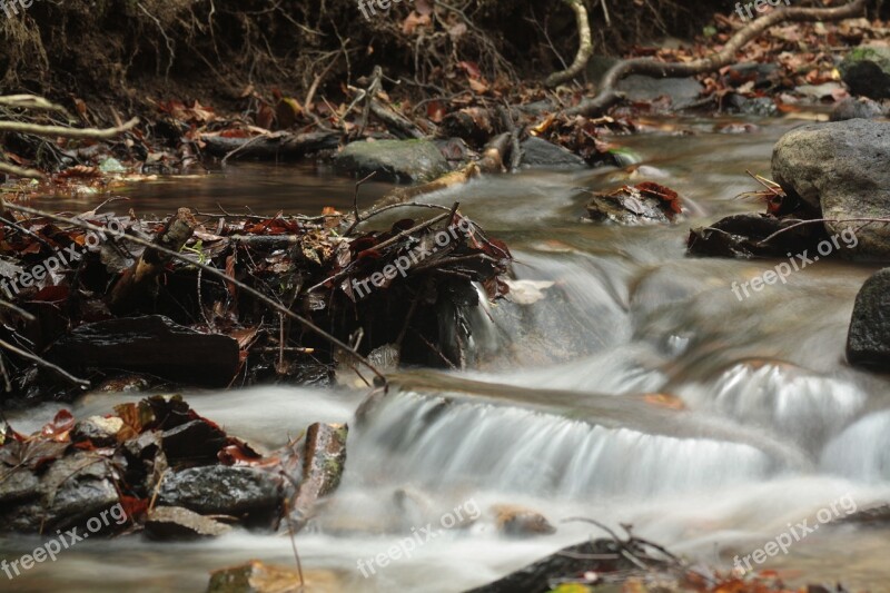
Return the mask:
<svg viewBox="0 0 890 593">
<path fill-rule="evenodd" d="M 426 182 L 449 171 L 448 161 L 427 140 L 378 140 L 353 142 L 334 157 L 340 172 L 375 181 Z"/>
</svg>

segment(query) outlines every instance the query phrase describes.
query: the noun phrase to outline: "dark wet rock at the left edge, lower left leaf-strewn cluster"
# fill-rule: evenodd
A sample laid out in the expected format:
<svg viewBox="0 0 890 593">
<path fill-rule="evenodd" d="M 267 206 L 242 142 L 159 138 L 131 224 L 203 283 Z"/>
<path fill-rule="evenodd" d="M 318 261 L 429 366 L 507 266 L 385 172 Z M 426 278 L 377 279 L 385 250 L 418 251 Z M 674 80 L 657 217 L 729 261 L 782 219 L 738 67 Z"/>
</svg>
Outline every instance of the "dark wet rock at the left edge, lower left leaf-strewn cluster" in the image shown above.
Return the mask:
<svg viewBox="0 0 890 593">
<path fill-rule="evenodd" d="M 77 452 L 56 459 L 36 492 L 29 478 L 16 477 L 30 472 L 23 466 L 12 474 L 16 485 L 7 496 L 20 502 L 0 506 L 0 530 L 47 533 L 82 524 L 118 503 L 109 464 L 95 454 Z"/>
</svg>

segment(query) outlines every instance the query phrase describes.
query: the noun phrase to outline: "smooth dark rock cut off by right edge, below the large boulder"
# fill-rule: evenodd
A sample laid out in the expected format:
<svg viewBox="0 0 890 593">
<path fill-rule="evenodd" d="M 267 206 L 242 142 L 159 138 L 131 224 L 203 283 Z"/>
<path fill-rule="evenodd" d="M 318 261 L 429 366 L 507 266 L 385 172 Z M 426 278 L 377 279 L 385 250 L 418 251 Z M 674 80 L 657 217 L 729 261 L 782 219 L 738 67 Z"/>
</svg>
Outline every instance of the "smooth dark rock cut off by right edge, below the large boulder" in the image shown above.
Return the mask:
<svg viewBox="0 0 890 593">
<path fill-rule="evenodd" d="M 866 280 L 856 296 L 847 359 L 852 365 L 890 365 L 890 268 Z"/>
</svg>

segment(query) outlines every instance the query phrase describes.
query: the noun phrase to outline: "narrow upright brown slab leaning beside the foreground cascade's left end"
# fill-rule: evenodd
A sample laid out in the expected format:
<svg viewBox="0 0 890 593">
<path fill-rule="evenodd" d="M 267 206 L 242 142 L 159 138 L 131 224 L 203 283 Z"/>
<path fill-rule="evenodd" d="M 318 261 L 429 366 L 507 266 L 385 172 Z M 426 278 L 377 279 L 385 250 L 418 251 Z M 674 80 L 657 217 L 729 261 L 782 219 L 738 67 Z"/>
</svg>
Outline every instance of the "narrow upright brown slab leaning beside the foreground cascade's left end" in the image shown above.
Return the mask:
<svg viewBox="0 0 890 593">
<path fill-rule="evenodd" d="M 330 494 L 339 485 L 346 464 L 348 434 L 349 427 L 345 424 L 316 423 L 306 432 L 303 481 L 290 505 L 291 523 L 297 527 L 306 524 L 318 498 Z"/>
</svg>

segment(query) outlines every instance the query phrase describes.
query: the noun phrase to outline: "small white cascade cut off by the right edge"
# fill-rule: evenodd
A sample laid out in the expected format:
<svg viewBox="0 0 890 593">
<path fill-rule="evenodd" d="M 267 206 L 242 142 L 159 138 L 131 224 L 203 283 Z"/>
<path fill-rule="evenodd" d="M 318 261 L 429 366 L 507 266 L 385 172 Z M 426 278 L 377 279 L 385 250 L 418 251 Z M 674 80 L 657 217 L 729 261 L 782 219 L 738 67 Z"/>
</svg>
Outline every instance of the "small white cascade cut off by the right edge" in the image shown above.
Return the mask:
<svg viewBox="0 0 890 593">
<path fill-rule="evenodd" d="M 821 466 L 867 483 L 890 481 L 890 411 L 869 414 L 832 439 Z"/>
</svg>

